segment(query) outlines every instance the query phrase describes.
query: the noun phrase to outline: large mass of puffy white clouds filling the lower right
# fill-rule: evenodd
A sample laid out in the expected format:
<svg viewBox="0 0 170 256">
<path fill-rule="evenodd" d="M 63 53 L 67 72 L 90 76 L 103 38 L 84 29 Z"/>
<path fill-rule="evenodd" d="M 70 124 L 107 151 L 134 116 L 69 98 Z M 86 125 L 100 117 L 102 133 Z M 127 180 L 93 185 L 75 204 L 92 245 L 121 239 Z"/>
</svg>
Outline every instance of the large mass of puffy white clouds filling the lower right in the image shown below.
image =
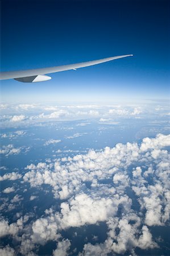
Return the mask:
<svg viewBox="0 0 170 256">
<path fill-rule="evenodd" d="M 107 225 L 105 241 L 86 243 L 80 255 L 127 251 L 135 255 L 136 247 L 142 250 L 157 247 L 150 226 L 167 225 L 170 212 L 170 161 L 164 148 L 167 146 L 170 146 L 169 135 L 158 134 L 155 138 L 144 138 L 140 144 L 118 143 L 113 148 L 89 150 L 69 159 L 28 165 L 23 181 L 34 188 L 42 189 L 45 184 L 49 191 L 51 187 L 60 210 L 46 209 L 31 222 L 29 232 L 22 236 L 20 251 L 28 255 L 31 245 L 44 245 L 51 240 L 57 244 L 53 255 L 62 251 L 67 255 L 71 241 L 61 238 L 62 230 L 99 222 Z M 138 210 L 134 207 L 135 200 Z M 11 224 L 5 225 L 10 230 Z M 22 225 L 16 222 L 13 226 L 18 236 Z"/>
</svg>

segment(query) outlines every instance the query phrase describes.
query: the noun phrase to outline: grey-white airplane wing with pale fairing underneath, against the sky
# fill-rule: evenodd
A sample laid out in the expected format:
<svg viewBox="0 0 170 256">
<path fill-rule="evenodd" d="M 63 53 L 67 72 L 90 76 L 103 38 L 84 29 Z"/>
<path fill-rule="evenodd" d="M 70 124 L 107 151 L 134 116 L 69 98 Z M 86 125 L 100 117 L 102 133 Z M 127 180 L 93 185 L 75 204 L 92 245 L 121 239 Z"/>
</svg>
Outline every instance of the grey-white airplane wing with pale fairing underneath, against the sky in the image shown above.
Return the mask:
<svg viewBox="0 0 170 256">
<path fill-rule="evenodd" d="M 15 79 L 19 82 L 42 82 L 42 81 L 47 81 L 51 79 L 50 76 L 46 76 L 45 74 L 89 67 L 89 66 L 100 64 L 100 63 L 105 63 L 107 61 L 121 59 L 128 56 L 132 56 L 132 55 L 129 54 L 129 55 L 114 56 L 114 57 L 109 57 L 109 58 L 100 59 L 100 60 L 92 60 L 92 61 L 62 65 L 62 66 L 51 67 L 51 68 L 38 68 L 38 69 L 28 69 L 23 71 L 1 72 L 0 80 Z"/>
</svg>

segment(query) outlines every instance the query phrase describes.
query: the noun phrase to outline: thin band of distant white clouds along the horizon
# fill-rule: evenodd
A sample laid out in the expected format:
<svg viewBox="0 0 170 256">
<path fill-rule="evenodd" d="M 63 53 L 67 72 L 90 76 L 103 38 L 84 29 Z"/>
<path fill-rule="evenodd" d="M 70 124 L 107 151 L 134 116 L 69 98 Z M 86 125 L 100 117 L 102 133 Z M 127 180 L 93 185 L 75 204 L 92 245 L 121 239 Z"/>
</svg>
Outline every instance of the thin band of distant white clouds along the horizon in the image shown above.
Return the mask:
<svg viewBox="0 0 170 256">
<path fill-rule="evenodd" d="M 165 106 L 161 106 L 161 111 L 158 114 L 165 115 L 168 113 L 169 109 Z M 10 110 L 10 111 L 9 111 Z M 5 115 L 3 118 L 6 119 L 6 125 L 12 126 L 20 125 L 19 121 L 24 125 L 31 125 L 32 123 L 39 122 L 51 122 L 52 119 L 57 120 L 80 120 L 82 118 L 93 119 L 93 118 L 103 118 L 108 119 L 110 117 L 117 118 L 140 118 L 140 114 L 152 113 L 155 114 L 155 104 L 154 108 L 150 105 L 140 106 L 140 105 L 36 105 L 36 104 L 19 104 L 13 105 L 11 109 L 4 110 Z M 15 110 L 15 112 L 14 112 Z M 17 112 L 16 112 L 17 110 Z M 30 110 L 30 111 L 29 111 Z M 165 111 L 164 111 L 165 110 Z M 9 115 L 7 115 L 9 111 Z M 13 111 L 13 112 L 11 112 Z M 45 111 L 45 112 L 44 112 Z M 16 114 L 18 113 L 19 114 Z M 31 115 L 34 112 L 34 115 Z M 167 113 L 166 113 L 167 112 Z M 11 115 L 12 113 L 12 115 Z M 10 119 L 10 122 L 7 120 Z"/>
</svg>

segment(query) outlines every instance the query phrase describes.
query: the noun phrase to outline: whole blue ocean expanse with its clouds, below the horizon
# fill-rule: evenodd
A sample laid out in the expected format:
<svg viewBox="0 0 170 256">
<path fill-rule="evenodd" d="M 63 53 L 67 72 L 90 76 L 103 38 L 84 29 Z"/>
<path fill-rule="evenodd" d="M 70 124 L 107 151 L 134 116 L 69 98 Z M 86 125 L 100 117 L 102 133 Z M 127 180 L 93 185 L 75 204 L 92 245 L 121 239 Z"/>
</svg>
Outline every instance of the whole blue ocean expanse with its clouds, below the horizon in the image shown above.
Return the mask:
<svg viewBox="0 0 170 256">
<path fill-rule="evenodd" d="M 1 255 L 169 255 L 167 102 L 1 104 Z"/>
</svg>

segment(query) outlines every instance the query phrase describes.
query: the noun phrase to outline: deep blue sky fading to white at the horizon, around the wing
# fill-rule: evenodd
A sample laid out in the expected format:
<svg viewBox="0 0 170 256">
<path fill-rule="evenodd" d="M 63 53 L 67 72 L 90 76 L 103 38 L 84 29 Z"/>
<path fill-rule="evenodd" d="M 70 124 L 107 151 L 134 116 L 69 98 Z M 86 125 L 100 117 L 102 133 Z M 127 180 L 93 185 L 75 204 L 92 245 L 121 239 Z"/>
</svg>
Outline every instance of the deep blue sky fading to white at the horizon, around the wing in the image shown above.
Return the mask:
<svg viewBox="0 0 170 256">
<path fill-rule="evenodd" d="M 1 0 L 2 71 L 132 53 L 96 67 L 23 84 L 1 81 L 3 101 L 168 98 L 168 0 Z"/>
</svg>

